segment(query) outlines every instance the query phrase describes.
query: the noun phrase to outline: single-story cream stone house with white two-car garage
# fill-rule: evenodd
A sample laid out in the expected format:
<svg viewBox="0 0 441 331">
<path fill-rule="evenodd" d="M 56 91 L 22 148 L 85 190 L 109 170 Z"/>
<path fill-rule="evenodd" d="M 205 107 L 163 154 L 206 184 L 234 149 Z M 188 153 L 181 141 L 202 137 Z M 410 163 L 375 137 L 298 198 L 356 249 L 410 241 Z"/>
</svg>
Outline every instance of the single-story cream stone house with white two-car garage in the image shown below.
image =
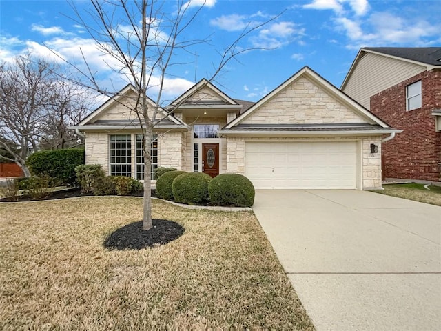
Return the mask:
<svg viewBox="0 0 441 331">
<path fill-rule="evenodd" d="M 126 86 L 73 128 L 85 134 L 86 163 L 142 180 L 135 94 Z M 165 110 L 174 112 L 154 128 L 152 170 L 235 172 L 256 189 L 380 188 L 382 136 L 400 132 L 308 67 L 256 103 L 203 79 Z"/>
</svg>

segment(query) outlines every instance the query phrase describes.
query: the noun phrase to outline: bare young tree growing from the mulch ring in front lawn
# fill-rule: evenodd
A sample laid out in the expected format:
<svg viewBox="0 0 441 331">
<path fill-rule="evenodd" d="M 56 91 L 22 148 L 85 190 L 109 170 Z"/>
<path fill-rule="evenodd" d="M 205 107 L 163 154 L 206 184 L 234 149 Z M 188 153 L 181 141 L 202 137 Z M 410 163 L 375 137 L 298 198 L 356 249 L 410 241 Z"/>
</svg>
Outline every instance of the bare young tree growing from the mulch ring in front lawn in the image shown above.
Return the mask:
<svg viewBox="0 0 441 331">
<path fill-rule="evenodd" d="M 107 59 L 112 59 L 111 68 L 130 81 L 136 89 L 135 106 L 130 110 L 136 114 L 142 128 L 144 155 L 144 200 L 143 228 L 152 228 L 151 185 L 150 185 L 150 144 L 152 131 L 163 120 L 163 92 L 165 80 L 170 77 L 172 67 L 183 64 L 179 58 L 185 53 L 194 54 L 193 46 L 207 43 L 207 39 L 189 39 L 187 32 L 201 8 L 189 10 L 189 1 L 176 1 L 176 12 L 165 12 L 165 1 L 127 1 L 92 0 L 92 10 L 88 14 L 94 19 L 94 25 L 87 23 L 76 9 L 76 23 L 81 24 L 96 42 L 97 47 Z M 265 22 L 267 23 L 267 22 Z M 265 24 L 264 23 L 264 24 Z M 213 66 L 212 81 L 225 65 L 238 54 L 251 50 L 239 47 L 239 41 L 263 24 L 246 28 L 227 48 L 219 52 L 217 65 Z M 74 66 L 83 76 L 82 86 L 97 92 L 113 96 L 117 94 L 102 88 L 95 72 L 92 72 L 88 59 L 83 55 L 86 69 Z M 89 59 L 90 61 L 90 59 Z M 110 63 L 109 63 L 110 64 Z M 187 63 L 188 65 L 188 63 Z M 85 80 L 84 80 L 85 79 Z M 202 87 L 203 88 L 203 87 Z M 154 106 L 148 102 L 148 92 L 154 91 Z M 153 94 L 153 93 L 150 93 Z M 180 105 L 169 108 L 167 113 L 175 111 Z"/>
</svg>

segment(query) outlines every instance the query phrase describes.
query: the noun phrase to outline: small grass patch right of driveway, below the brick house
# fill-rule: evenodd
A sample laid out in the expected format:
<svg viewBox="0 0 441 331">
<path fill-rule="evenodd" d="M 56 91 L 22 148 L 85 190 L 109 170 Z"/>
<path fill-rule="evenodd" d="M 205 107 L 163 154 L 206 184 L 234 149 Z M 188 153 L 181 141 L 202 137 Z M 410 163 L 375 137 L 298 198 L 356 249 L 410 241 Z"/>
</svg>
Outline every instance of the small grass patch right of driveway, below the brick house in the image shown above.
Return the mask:
<svg viewBox="0 0 441 331">
<path fill-rule="evenodd" d="M 424 188 L 424 184 L 406 183 L 406 184 L 388 184 L 383 185 L 384 190 L 373 192 L 391 195 L 413 201 L 430 203 L 432 205 L 441 205 L 441 187 L 429 185 L 429 189 Z"/>
</svg>

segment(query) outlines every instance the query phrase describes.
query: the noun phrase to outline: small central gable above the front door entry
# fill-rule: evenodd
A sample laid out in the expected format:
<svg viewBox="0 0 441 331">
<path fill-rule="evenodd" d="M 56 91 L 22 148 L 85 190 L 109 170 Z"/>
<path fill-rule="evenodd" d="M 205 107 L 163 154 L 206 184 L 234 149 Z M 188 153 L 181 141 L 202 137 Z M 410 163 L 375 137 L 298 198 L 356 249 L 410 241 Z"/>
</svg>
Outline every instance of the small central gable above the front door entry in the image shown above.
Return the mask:
<svg viewBox="0 0 441 331">
<path fill-rule="evenodd" d="M 228 97 L 227 94 L 216 88 L 207 79 L 201 79 L 198 83 L 189 88 L 187 92 L 181 94 L 175 99 L 170 106 L 181 105 L 201 105 L 201 104 L 227 104 L 238 105 L 234 99 Z"/>
</svg>

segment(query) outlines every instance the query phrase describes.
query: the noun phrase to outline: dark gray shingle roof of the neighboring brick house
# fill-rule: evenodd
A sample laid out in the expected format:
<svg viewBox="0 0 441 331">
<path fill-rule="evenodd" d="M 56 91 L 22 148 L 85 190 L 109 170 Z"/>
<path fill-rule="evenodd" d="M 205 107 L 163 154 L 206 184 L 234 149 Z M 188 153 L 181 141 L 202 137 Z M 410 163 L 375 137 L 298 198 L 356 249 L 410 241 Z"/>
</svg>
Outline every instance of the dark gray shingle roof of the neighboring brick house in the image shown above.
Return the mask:
<svg viewBox="0 0 441 331">
<path fill-rule="evenodd" d="M 441 47 L 365 47 L 363 49 L 441 66 Z"/>
</svg>

